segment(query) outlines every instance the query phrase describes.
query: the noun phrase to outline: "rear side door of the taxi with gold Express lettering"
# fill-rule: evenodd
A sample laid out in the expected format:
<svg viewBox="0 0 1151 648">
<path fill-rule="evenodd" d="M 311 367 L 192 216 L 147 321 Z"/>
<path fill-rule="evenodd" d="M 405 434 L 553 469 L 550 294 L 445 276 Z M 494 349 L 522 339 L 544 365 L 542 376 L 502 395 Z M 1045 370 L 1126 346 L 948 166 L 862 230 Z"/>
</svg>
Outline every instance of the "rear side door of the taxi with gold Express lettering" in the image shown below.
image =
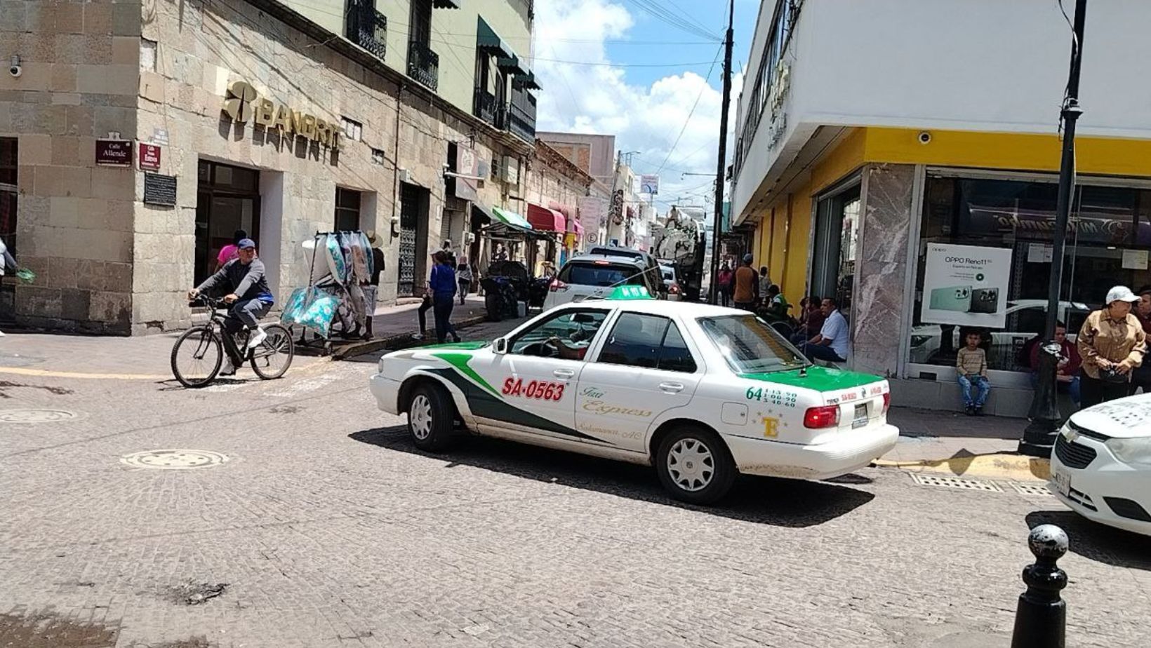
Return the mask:
<svg viewBox="0 0 1151 648">
<path fill-rule="evenodd" d="M 576 429 L 625 450 L 647 452 L 651 425 L 692 401 L 703 378 L 698 357 L 673 320 L 622 312 L 595 359 L 580 373 Z"/>
</svg>

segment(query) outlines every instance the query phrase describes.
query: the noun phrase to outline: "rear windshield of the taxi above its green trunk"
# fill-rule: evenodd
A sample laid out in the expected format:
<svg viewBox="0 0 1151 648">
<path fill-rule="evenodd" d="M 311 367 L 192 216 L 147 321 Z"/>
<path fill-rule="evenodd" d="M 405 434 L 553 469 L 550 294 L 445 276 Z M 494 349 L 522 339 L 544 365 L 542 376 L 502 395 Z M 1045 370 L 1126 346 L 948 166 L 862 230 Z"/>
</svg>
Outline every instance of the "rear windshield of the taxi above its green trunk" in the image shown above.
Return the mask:
<svg viewBox="0 0 1151 648">
<path fill-rule="evenodd" d="M 738 374 L 790 371 L 810 365 L 768 322 L 755 315 L 700 318 L 700 326 Z"/>
</svg>

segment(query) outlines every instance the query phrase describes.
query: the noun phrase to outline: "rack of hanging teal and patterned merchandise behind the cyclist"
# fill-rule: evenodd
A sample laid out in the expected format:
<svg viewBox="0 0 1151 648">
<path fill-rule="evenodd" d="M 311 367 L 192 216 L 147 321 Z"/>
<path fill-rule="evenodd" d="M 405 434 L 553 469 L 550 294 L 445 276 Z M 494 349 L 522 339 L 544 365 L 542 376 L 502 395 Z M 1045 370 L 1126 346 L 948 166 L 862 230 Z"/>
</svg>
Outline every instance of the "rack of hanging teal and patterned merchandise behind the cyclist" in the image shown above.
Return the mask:
<svg viewBox="0 0 1151 648">
<path fill-rule="evenodd" d="M 329 353 L 334 326 L 342 338 L 351 341 L 375 312 L 363 289 L 372 279 L 372 247 L 359 230 L 317 231 L 302 247 L 308 262 L 307 287 L 292 291 L 280 321 L 299 327 L 297 348 L 322 348 Z M 371 300 L 375 302 L 374 296 Z"/>
</svg>

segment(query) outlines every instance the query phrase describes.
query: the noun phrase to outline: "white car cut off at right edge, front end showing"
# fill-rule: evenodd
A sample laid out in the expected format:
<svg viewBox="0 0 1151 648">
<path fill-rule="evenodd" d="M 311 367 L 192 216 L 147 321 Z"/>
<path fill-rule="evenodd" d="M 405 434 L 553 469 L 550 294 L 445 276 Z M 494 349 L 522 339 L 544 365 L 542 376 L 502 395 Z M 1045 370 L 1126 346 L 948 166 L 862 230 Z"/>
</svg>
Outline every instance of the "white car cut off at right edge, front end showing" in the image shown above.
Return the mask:
<svg viewBox="0 0 1151 648">
<path fill-rule="evenodd" d="M 1088 519 L 1151 535 L 1151 395 L 1072 414 L 1055 437 L 1049 486 Z"/>
</svg>

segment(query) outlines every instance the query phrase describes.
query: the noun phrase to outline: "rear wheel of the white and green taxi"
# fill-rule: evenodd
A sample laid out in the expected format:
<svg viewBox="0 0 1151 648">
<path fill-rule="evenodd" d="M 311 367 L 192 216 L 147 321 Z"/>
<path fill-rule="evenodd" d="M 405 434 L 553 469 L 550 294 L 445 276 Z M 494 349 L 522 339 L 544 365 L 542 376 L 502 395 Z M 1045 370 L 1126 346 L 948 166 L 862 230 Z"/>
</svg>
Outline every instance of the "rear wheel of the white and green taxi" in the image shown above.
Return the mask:
<svg viewBox="0 0 1151 648">
<path fill-rule="evenodd" d="M 655 466 L 672 497 L 692 504 L 717 502 L 735 482 L 735 463 L 727 447 L 702 427 L 683 427 L 665 436 Z"/>
</svg>

